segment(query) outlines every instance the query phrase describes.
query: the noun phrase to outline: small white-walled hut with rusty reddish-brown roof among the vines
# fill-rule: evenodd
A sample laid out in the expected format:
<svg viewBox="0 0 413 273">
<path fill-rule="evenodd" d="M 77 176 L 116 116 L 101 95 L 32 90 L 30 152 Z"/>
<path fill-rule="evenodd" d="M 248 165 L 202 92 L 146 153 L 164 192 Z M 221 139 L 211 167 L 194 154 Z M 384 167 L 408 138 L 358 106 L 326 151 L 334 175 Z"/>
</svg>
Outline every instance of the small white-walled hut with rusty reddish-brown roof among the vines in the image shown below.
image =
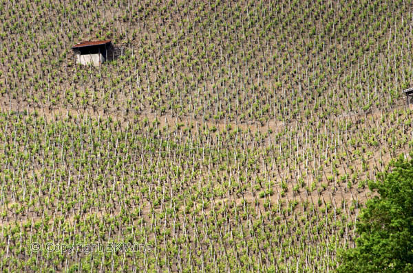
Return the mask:
<svg viewBox="0 0 413 273">
<path fill-rule="evenodd" d="M 78 64 L 102 64 L 107 60 L 107 51 L 112 47 L 112 40 L 96 40 L 78 43 L 72 47 Z"/>
</svg>

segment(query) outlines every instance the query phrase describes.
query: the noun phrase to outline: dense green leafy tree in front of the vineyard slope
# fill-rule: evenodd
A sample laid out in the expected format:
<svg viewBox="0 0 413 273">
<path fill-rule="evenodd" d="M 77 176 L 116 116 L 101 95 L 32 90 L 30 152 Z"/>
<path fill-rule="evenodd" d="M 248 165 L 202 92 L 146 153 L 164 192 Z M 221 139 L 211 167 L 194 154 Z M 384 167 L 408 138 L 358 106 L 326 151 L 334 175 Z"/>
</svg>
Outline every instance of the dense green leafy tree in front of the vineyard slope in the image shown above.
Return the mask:
<svg viewBox="0 0 413 273">
<path fill-rule="evenodd" d="M 337 272 L 413 272 L 413 160 L 400 156 L 370 183 L 356 247 L 343 250 Z"/>
</svg>

